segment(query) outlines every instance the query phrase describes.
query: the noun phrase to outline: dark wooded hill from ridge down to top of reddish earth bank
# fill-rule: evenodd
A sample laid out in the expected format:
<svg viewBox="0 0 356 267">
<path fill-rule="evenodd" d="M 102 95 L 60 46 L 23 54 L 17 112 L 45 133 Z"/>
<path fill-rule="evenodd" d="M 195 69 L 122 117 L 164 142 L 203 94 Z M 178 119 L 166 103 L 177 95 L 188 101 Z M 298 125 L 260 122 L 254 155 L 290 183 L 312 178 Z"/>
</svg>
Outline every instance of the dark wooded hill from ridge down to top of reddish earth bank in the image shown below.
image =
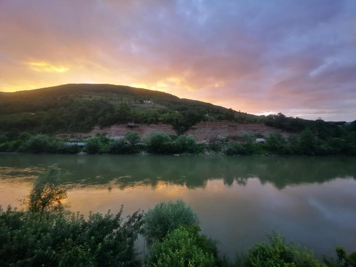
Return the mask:
<svg viewBox="0 0 356 267">
<path fill-rule="evenodd" d="M 204 121 L 259 123 L 294 133 L 310 128 L 316 136 L 324 139 L 340 136 L 340 127 L 323 120 L 304 120 L 286 117 L 281 113 L 257 116 L 202 101 L 178 98 L 161 91 L 124 85 L 65 84 L 0 94 L 0 132 L 8 132 L 10 136 L 11 132 L 15 135 L 24 131 L 85 133 L 98 127 L 107 128 L 130 122 L 147 125 L 164 123 L 170 125 L 172 131 L 181 134 Z M 218 125 L 213 131 L 226 131 L 224 129 L 228 129 L 229 125 L 222 128 Z M 210 131 L 209 127 L 202 128 L 202 131 Z M 261 129 L 247 125 L 239 125 L 238 128 L 238 131 L 226 131 L 226 135 L 229 132 L 237 134 Z M 271 131 L 278 132 L 268 129 L 266 133 Z"/>
</svg>

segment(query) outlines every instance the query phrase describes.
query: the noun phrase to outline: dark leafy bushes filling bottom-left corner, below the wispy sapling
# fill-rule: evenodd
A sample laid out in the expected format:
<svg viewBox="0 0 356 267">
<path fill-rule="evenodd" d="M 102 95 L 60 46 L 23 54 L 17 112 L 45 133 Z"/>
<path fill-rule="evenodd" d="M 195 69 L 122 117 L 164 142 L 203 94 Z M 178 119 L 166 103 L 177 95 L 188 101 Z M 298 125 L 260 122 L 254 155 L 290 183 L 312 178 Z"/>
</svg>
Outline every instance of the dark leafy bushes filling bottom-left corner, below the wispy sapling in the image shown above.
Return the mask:
<svg viewBox="0 0 356 267">
<path fill-rule="evenodd" d="M 142 214 L 37 214 L 0 207 L 0 266 L 140 266 Z"/>
</svg>

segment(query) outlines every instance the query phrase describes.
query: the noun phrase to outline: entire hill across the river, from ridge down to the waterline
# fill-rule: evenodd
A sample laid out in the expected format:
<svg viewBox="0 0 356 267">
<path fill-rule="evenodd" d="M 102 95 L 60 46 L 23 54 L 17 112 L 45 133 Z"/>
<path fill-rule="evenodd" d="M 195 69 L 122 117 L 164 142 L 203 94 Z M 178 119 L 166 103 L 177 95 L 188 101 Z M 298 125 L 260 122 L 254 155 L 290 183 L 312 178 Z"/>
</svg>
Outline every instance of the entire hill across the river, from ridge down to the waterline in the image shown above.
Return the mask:
<svg viewBox="0 0 356 267">
<path fill-rule="evenodd" d="M 129 139 L 146 136 L 145 144 L 128 146 L 126 139 L 108 138 L 126 133 Z M 193 138 L 177 137 L 182 133 Z M 67 139 L 58 135 L 96 136 L 87 139 L 89 153 L 356 155 L 356 121 L 338 126 L 281 113 L 256 116 L 110 84 L 66 84 L 0 94 L 1 152 L 78 152 L 78 146 L 65 145 Z M 266 144 L 255 143 L 257 137 L 266 138 Z"/>
</svg>

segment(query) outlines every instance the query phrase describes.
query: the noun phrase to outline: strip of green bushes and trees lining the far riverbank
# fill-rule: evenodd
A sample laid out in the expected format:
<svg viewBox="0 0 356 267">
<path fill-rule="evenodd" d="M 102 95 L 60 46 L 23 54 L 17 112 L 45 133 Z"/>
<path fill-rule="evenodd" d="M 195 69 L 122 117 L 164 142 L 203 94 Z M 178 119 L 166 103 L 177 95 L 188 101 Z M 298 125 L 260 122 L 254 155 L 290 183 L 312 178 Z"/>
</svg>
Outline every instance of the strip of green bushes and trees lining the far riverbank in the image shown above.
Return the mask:
<svg viewBox="0 0 356 267">
<path fill-rule="evenodd" d="M 347 135 L 353 136 L 355 122 L 349 126 Z M 350 137 L 351 138 L 351 137 Z M 11 140 L 11 139 L 10 139 Z M 260 142 L 262 140 L 262 142 Z M 81 139 L 78 143 L 49 135 L 31 135 L 23 132 L 15 140 L 9 141 L 6 134 L 0 135 L 0 152 L 28 153 L 157 153 L 193 155 L 356 155 L 356 145 L 343 138 L 315 137 L 312 130 L 304 129 L 300 135 L 283 137 L 280 133 L 245 133 L 240 136 L 214 138 L 207 143 L 197 143 L 193 136 L 166 135 L 154 132 L 141 138 L 135 131 L 127 131 L 119 138 L 109 138 L 105 133 Z"/>
</svg>

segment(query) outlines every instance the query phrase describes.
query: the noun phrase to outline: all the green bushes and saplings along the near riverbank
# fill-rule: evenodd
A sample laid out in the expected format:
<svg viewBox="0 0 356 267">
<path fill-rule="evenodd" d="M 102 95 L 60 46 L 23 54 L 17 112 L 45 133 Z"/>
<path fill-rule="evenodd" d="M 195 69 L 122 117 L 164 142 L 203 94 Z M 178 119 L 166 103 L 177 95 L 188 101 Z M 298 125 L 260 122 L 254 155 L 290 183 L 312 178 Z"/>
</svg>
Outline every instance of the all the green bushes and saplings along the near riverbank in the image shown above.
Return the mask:
<svg viewBox="0 0 356 267">
<path fill-rule="evenodd" d="M 22 210 L 0 209 L 1 266 L 356 266 L 356 253 L 336 247 L 336 258 L 287 244 L 280 234 L 229 259 L 218 240 L 201 233 L 198 215 L 182 200 L 158 203 L 123 218 L 67 210 L 69 173 L 50 166 L 21 200 Z M 145 255 L 135 241 L 142 235 Z M 318 257 L 320 258 L 320 257 Z"/>
</svg>

